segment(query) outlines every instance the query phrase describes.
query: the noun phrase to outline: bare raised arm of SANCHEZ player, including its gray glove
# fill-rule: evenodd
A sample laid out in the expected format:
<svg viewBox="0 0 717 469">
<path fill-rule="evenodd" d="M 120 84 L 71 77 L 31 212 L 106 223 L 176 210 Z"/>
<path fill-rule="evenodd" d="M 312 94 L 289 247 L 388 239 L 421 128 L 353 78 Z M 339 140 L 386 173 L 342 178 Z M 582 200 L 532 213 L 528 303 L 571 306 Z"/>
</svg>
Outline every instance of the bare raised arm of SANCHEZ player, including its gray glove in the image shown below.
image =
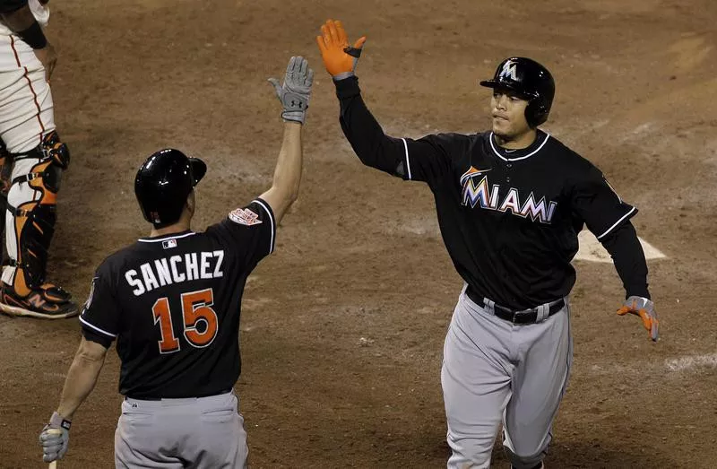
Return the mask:
<svg viewBox="0 0 717 469">
<path fill-rule="evenodd" d="M 264 192 L 261 198 L 271 205 L 278 224 L 298 197 L 303 164 L 301 132 L 306 121 L 314 71 L 308 67 L 305 58 L 291 57 L 283 85 L 274 78 L 270 79 L 270 82 L 284 107 L 281 113 L 284 119 L 284 137 L 274 169 L 272 187 Z"/>
</svg>

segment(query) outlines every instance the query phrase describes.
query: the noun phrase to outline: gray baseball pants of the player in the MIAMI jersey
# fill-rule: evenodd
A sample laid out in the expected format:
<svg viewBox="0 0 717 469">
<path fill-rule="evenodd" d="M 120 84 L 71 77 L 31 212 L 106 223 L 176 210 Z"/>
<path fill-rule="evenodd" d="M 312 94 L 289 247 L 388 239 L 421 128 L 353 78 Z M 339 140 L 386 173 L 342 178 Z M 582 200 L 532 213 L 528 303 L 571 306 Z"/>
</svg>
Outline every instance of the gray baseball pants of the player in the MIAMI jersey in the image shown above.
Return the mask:
<svg viewBox="0 0 717 469">
<path fill-rule="evenodd" d="M 540 465 L 573 360 L 565 300 L 539 323 L 514 325 L 474 303 L 463 288 L 441 369 L 449 469 L 488 468 L 501 423 L 511 464 Z"/>
</svg>

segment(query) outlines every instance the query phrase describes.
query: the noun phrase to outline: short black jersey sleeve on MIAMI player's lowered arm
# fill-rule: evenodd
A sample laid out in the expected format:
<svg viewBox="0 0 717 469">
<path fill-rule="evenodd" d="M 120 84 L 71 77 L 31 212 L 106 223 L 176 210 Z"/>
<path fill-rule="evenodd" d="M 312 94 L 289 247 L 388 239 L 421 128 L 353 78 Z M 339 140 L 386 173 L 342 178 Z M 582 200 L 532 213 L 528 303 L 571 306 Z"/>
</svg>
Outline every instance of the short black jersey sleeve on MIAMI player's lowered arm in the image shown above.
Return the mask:
<svg viewBox="0 0 717 469">
<path fill-rule="evenodd" d="M 573 213 L 599 240 L 630 220 L 637 209 L 623 201 L 600 169 L 590 166 L 573 190 Z"/>
</svg>

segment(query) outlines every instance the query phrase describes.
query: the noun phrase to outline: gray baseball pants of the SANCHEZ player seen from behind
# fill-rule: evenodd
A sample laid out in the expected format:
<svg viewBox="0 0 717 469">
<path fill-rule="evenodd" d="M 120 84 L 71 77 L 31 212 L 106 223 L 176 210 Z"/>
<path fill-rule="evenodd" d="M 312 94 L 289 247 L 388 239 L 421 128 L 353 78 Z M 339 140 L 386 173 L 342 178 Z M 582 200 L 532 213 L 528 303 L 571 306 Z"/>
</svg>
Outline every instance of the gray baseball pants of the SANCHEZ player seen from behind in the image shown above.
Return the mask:
<svg viewBox="0 0 717 469">
<path fill-rule="evenodd" d="M 247 453 L 244 418 L 233 391 L 122 403 L 115 431 L 118 468 L 244 468 Z"/>
</svg>

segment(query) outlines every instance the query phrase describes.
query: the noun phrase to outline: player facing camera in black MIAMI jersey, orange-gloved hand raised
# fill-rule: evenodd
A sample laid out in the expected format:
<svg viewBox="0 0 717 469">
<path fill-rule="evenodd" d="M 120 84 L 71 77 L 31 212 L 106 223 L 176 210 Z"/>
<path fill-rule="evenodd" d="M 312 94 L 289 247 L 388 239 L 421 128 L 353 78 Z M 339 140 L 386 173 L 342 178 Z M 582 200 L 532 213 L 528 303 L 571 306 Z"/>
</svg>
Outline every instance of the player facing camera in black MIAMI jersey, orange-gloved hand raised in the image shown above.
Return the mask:
<svg viewBox="0 0 717 469">
<path fill-rule="evenodd" d="M 316 40 L 344 135 L 367 166 L 428 184 L 464 281 L 441 371 L 448 467 L 488 467 L 501 423 L 511 464 L 542 467 L 572 360 L 570 263 L 583 226 L 608 249 L 625 285 L 618 314 L 642 317 L 657 340 L 647 265 L 630 223 L 637 210 L 600 169 L 537 128 L 555 93 L 544 66 L 512 57 L 480 82 L 493 89 L 491 131 L 393 138 L 368 111 L 354 74 L 366 39 L 351 46 L 332 20 L 321 30 Z"/>
</svg>

